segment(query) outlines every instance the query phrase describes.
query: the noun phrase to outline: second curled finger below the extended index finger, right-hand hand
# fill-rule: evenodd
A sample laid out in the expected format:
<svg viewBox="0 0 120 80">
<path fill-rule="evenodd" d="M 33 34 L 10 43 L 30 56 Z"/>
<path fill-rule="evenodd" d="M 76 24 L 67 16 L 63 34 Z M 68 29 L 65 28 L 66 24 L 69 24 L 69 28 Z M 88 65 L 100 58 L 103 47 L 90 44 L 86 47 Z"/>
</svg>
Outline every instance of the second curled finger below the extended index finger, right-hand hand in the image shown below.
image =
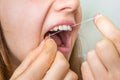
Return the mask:
<svg viewBox="0 0 120 80">
<path fill-rule="evenodd" d="M 87 62 L 95 77 L 95 80 L 105 80 L 107 70 L 105 66 L 101 63 L 94 50 L 87 54 Z"/>
</svg>

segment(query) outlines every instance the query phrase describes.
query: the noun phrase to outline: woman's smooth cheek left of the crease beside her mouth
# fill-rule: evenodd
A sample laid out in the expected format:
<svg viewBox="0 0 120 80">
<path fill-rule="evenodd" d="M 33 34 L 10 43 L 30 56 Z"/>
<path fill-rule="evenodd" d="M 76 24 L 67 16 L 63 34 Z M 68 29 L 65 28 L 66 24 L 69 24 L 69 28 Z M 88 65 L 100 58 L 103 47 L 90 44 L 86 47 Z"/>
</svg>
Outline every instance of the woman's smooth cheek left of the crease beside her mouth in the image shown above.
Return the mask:
<svg viewBox="0 0 120 80">
<path fill-rule="evenodd" d="M 14 56 L 22 61 L 43 38 L 42 23 L 48 6 L 43 10 L 32 3 L 6 3 L 6 5 L 1 9 L 4 36 Z"/>
</svg>

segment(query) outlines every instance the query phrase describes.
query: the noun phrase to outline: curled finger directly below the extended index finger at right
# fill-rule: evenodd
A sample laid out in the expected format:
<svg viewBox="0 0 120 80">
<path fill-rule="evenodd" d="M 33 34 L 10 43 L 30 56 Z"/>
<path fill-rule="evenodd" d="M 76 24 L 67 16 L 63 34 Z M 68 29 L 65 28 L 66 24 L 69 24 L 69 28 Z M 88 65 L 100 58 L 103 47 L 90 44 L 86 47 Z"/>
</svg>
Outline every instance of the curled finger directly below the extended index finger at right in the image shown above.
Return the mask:
<svg viewBox="0 0 120 80">
<path fill-rule="evenodd" d="M 96 53 L 109 71 L 120 70 L 120 58 L 111 41 L 103 39 L 96 45 Z"/>
</svg>

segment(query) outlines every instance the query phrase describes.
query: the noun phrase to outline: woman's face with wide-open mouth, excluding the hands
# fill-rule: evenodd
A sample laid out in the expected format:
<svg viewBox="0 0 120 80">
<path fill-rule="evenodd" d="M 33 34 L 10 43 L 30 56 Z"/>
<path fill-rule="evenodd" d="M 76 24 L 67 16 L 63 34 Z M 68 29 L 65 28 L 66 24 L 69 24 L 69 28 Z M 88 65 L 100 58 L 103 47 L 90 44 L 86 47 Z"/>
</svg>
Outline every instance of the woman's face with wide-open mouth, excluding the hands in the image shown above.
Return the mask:
<svg viewBox="0 0 120 80">
<path fill-rule="evenodd" d="M 79 0 L 0 0 L 0 22 L 8 47 L 22 61 L 58 28 L 62 32 L 51 38 L 69 59 L 78 32 L 71 25 L 80 22 L 79 9 Z"/>
</svg>

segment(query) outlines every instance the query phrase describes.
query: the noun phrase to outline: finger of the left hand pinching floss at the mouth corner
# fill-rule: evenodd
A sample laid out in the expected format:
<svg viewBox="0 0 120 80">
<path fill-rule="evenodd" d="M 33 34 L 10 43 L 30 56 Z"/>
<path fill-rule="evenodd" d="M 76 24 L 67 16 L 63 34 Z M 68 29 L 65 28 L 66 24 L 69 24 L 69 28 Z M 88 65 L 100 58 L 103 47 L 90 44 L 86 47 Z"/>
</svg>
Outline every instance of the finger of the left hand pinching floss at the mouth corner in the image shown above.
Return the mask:
<svg viewBox="0 0 120 80">
<path fill-rule="evenodd" d="M 51 46 L 49 46 L 51 45 Z M 15 70 L 10 80 L 27 79 L 34 76 L 35 80 L 42 78 L 52 64 L 57 52 L 57 46 L 52 39 L 47 39 L 30 53 Z"/>
</svg>

